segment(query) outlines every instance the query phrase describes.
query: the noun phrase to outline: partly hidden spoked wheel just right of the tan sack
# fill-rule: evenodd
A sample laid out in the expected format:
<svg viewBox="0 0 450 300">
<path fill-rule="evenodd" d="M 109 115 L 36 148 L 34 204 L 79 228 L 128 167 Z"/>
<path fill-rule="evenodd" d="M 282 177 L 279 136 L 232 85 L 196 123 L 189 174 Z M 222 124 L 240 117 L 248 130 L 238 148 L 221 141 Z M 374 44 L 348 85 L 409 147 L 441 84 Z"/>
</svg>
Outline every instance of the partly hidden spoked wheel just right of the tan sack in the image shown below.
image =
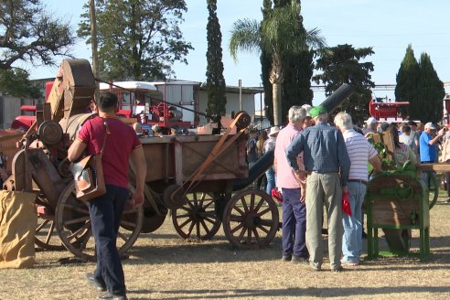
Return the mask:
<svg viewBox="0 0 450 300">
<path fill-rule="evenodd" d="M 55 213 L 47 202 L 37 197 L 37 228 L 35 233 L 35 244 L 38 248 L 51 251 L 64 250 L 55 228 Z"/>
</svg>

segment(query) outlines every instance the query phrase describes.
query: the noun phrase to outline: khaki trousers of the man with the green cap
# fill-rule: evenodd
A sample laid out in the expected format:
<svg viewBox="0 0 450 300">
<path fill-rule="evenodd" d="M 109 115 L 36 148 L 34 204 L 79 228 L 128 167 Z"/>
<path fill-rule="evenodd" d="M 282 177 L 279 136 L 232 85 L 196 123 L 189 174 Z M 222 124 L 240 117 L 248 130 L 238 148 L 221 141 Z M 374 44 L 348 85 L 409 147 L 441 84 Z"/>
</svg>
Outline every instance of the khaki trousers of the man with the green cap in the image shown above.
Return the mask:
<svg viewBox="0 0 450 300">
<path fill-rule="evenodd" d="M 311 173 L 306 180 L 306 247 L 311 266 L 320 268 L 324 257 L 322 218 L 327 209 L 328 253 L 331 269 L 342 255 L 342 187 L 338 173 Z"/>
</svg>

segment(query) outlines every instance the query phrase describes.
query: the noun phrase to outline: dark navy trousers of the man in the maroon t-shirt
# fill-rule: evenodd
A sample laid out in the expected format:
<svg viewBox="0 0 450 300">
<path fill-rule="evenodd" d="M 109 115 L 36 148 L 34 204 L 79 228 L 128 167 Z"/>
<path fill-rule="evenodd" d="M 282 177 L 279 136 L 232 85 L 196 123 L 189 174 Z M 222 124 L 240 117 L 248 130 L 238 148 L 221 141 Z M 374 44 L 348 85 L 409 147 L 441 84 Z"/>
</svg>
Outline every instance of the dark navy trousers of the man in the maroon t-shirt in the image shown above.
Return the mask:
<svg viewBox="0 0 450 300">
<path fill-rule="evenodd" d="M 106 194 L 88 202 L 97 254 L 97 268 L 93 275 L 114 294 L 125 293 L 125 279 L 116 240 L 127 200 L 127 188 L 106 185 Z"/>
</svg>

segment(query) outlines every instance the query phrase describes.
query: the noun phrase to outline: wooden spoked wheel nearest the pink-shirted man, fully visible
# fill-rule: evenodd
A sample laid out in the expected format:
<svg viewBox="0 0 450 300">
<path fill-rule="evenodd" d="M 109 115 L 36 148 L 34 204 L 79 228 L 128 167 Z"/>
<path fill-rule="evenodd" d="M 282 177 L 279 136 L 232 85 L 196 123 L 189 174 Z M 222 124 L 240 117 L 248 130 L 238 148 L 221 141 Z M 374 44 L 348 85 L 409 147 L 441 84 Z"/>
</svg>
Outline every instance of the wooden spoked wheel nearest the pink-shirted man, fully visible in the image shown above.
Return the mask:
<svg viewBox="0 0 450 300">
<path fill-rule="evenodd" d="M 242 249 L 263 248 L 279 228 L 278 208 L 261 190 L 245 190 L 230 199 L 223 211 L 227 239 Z"/>
</svg>

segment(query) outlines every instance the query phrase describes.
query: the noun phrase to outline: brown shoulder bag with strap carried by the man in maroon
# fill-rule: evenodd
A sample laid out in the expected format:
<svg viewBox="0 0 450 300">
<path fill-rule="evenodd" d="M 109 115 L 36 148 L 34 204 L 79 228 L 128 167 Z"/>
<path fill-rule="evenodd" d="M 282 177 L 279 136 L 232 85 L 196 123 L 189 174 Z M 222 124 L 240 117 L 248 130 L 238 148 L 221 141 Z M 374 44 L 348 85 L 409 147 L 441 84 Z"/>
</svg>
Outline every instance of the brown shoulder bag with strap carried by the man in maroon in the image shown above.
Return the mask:
<svg viewBox="0 0 450 300">
<path fill-rule="evenodd" d="M 104 126 L 106 134 L 103 139 L 100 153 L 85 156 L 77 163 L 70 164 L 70 172 L 75 181 L 75 195 L 81 201 L 89 201 L 92 198 L 97 198 L 106 194 L 102 155 L 104 145 L 106 144 L 106 136 L 110 133 L 106 121 L 104 122 Z"/>
</svg>

